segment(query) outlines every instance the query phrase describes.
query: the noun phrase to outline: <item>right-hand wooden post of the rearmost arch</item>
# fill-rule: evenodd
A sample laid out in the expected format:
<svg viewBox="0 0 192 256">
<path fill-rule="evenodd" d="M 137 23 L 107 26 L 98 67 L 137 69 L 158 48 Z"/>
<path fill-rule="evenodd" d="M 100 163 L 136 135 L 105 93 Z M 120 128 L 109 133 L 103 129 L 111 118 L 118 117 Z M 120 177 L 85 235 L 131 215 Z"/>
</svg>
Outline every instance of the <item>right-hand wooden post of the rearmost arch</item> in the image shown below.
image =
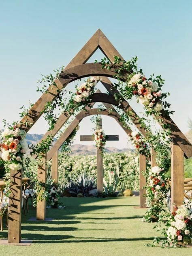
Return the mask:
<svg viewBox="0 0 192 256">
<path fill-rule="evenodd" d="M 145 208 L 146 197 L 143 197 L 143 195 L 146 193 L 146 189 L 143 189 L 143 186 L 146 185 L 146 178 L 143 176 L 142 171 L 146 170 L 146 157 L 142 154 L 139 154 L 139 170 L 140 208 Z"/>
</svg>

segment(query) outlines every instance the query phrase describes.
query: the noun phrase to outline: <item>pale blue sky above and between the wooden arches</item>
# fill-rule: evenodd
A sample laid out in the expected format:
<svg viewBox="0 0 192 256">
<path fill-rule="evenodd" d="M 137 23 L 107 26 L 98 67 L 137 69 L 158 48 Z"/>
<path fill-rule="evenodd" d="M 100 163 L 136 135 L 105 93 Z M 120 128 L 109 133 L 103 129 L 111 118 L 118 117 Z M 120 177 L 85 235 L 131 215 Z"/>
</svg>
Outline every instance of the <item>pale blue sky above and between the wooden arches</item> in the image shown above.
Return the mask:
<svg viewBox="0 0 192 256">
<path fill-rule="evenodd" d="M 192 119 L 191 12 L 190 0 L 0 0 L 0 119 L 18 120 L 19 107 L 40 97 L 41 74 L 66 66 L 100 28 L 124 59 L 138 56 L 146 76 L 162 75 L 172 118 L 186 132 Z M 101 56 L 96 52 L 93 59 Z M 82 121 L 77 137 L 91 133 L 89 124 Z M 125 147 L 126 135 L 117 124 L 105 119 L 103 126 L 106 133 L 121 135 L 108 145 Z M 42 120 L 30 130 L 44 132 Z"/>
</svg>

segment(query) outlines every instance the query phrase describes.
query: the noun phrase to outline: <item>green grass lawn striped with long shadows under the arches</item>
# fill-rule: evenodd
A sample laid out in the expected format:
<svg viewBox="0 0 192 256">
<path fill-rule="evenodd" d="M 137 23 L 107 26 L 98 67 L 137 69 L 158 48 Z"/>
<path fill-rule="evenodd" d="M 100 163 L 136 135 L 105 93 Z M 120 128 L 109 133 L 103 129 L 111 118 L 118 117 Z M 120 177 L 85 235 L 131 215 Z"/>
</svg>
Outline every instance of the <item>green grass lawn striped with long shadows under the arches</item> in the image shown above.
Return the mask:
<svg viewBox="0 0 192 256">
<path fill-rule="evenodd" d="M 153 223 L 141 221 L 145 209 L 135 209 L 139 197 L 107 199 L 62 198 L 66 208 L 47 209 L 51 222 L 28 221 L 35 210 L 22 216 L 21 239 L 27 246 L 1 245 L 0 255 L 159 256 L 192 255 L 192 247 L 145 247 L 158 233 Z M 0 232 L 7 239 L 7 229 Z"/>
</svg>

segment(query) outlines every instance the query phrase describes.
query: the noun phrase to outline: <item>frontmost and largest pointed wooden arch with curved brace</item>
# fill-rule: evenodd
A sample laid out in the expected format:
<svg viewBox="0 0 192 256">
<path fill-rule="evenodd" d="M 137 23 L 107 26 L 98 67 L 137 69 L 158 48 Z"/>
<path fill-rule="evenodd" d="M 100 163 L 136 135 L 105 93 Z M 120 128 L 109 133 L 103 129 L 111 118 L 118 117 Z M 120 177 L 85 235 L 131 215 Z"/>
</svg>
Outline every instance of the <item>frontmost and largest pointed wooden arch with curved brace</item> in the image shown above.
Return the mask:
<svg viewBox="0 0 192 256">
<path fill-rule="evenodd" d="M 123 60 L 123 57 L 110 43 L 107 37 L 102 33 L 100 29 L 92 36 L 92 38 L 83 46 L 75 58 L 66 66 L 64 72 L 60 74 L 59 79 L 55 80 L 57 86 L 51 86 L 48 88 L 47 93 L 44 93 L 41 98 L 34 104 L 34 106 L 28 112 L 28 115 L 21 119 L 23 124 L 21 128 L 28 132 L 31 126 L 26 126 L 26 123 L 34 124 L 38 118 L 42 115 L 43 110 L 47 102 L 53 101 L 57 96 L 59 91 L 61 91 L 69 82 L 77 80 L 78 78 L 83 78 L 85 76 L 97 75 L 113 77 L 114 69 L 113 66 L 111 70 L 101 69 L 100 63 L 88 63 L 85 64 L 88 59 L 94 54 L 97 49 L 100 49 L 107 58 L 114 60 L 113 56 L 119 56 Z M 124 79 L 126 79 L 126 74 Z M 108 86 L 108 85 L 107 85 Z M 110 86 L 110 85 L 109 85 Z M 109 88 L 109 87 L 108 87 Z M 116 89 L 113 88 L 114 92 Z M 110 93 L 111 93 L 110 92 Z M 118 91 L 117 91 L 118 92 Z M 111 97 L 111 100 L 113 97 Z M 127 109 L 130 107 L 127 103 Z M 65 113 L 64 113 L 65 115 Z M 70 115 L 70 113 L 67 113 Z M 134 116 L 136 118 L 137 116 Z M 184 171 L 183 171 L 183 156 L 190 158 L 192 156 L 192 145 L 179 130 L 177 125 L 173 122 L 170 117 L 166 117 L 164 111 L 162 111 L 162 117 L 164 117 L 165 123 L 171 126 L 171 137 L 173 138 L 172 143 L 172 156 L 171 156 L 171 197 L 172 202 L 177 205 L 181 205 L 184 198 L 183 186 L 184 186 Z M 137 118 L 135 119 L 138 121 Z M 61 121 L 61 120 L 60 120 Z M 60 122 L 61 125 L 61 122 Z M 58 125 L 59 126 L 59 125 Z M 138 128 L 138 127 L 137 127 Z M 56 129 L 55 129 L 56 130 Z M 54 132 L 55 132 L 54 130 Z M 47 134 L 47 133 L 46 133 Z M 38 179 L 45 181 L 42 178 L 45 176 L 46 167 L 43 165 L 39 169 Z M 9 205 L 9 243 L 20 243 L 21 238 L 21 187 L 22 187 L 22 170 L 21 171 L 11 171 L 11 195 L 10 195 L 10 205 Z M 43 202 L 39 207 L 45 205 Z M 43 219 L 45 216 L 41 216 Z"/>
</svg>

